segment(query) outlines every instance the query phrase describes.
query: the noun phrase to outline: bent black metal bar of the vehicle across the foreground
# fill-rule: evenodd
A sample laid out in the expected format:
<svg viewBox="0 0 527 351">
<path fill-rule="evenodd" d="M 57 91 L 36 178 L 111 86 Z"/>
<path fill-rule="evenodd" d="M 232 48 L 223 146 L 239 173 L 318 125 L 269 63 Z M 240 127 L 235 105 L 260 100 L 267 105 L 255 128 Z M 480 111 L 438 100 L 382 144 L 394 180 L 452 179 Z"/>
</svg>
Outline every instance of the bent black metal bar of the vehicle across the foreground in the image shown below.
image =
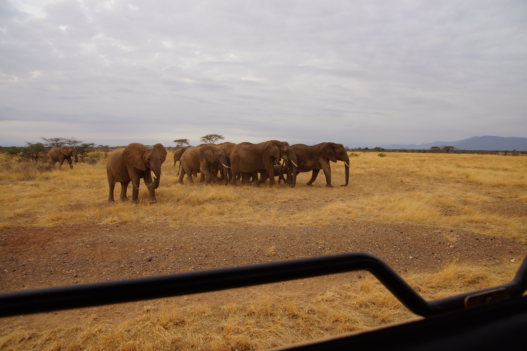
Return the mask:
<svg viewBox="0 0 527 351">
<path fill-rule="evenodd" d="M 431 316 L 464 308 L 465 296 L 469 295 L 463 294 L 426 302 L 383 260 L 374 255 L 356 252 L 165 276 L 2 293 L 0 294 L 0 317 L 204 293 L 351 270 L 368 270 L 408 309 L 421 316 Z M 504 287 L 511 291 L 511 296 L 520 296 L 527 289 L 527 259 L 523 260 L 513 282 Z"/>
</svg>

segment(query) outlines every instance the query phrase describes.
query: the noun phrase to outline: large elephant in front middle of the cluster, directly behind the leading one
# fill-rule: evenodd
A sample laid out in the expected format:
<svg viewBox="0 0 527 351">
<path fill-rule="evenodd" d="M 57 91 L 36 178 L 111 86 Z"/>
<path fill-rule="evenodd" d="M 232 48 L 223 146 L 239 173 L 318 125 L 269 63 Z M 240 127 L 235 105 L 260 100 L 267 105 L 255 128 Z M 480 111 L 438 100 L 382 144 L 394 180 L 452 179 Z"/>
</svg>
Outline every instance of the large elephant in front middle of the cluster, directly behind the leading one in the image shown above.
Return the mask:
<svg viewBox="0 0 527 351">
<path fill-rule="evenodd" d="M 297 157 L 295 151 L 289 146 L 287 142 L 279 142 L 277 140 L 270 140 L 264 143 L 240 143 L 237 144 L 231 152 L 231 171 L 232 174 L 238 172 L 260 172 L 265 169 L 269 175 L 269 186 L 275 184 L 275 161 L 277 159 L 287 160 L 288 165 L 291 165 L 291 179 L 289 184 L 291 187 L 296 185 L 297 176 Z M 260 185 L 265 177 L 260 177 L 255 184 Z M 232 177 L 231 183 L 236 186 L 236 177 Z"/>
</svg>

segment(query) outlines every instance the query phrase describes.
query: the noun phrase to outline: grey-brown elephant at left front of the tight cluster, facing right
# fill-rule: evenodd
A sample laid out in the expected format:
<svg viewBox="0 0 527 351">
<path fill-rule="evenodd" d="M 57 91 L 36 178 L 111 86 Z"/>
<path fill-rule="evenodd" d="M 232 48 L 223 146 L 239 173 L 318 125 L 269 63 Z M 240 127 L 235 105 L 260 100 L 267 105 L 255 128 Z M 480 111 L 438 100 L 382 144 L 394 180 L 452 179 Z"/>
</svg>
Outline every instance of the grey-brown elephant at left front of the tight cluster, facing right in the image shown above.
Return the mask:
<svg viewBox="0 0 527 351">
<path fill-rule="evenodd" d="M 189 147 L 186 152 L 181 155 L 181 173 L 179 174 L 178 183 L 183 184 L 183 176 L 188 175 L 189 182 L 194 183 L 192 179 L 192 172 L 201 172 L 204 175 L 205 184 L 210 184 L 212 181 L 212 168 L 215 162 L 225 167 L 227 159 L 223 150 L 214 145 L 205 145 L 201 147 Z"/>
</svg>

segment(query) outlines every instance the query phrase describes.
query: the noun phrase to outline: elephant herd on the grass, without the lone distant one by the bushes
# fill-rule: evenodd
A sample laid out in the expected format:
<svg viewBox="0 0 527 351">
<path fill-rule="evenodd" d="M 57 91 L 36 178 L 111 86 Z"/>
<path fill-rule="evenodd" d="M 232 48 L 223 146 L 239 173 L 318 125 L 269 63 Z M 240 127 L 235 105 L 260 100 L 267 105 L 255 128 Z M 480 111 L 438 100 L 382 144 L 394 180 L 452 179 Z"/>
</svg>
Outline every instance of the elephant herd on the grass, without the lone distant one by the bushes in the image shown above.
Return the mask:
<svg viewBox="0 0 527 351">
<path fill-rule="evenodd" d="M 155 189 L 159 186 L 160 177 L 164 176 L 161 165 L 166 158 L 167 151 L 161 144 L 146 146 L 132 143 L 115 149 L 106 163 L 110 187 L 108 202 L 114 201 L 113 190 L 117 182 L 121 183 L 122 201 L 129 199 L 126 189 L 132 182 L 132 202 L 138 202 L 141 178 L 149 190 L 150 202 L 157 202 Z M 278 182 L 284 180 L 284 183 L 294 187 L 298 173 L 313 172 L 307 182 L 311 186 L 322 169 L 326 176 L 326 186 L 333 187 L 329 161 L 342 161 L 345 164 L 346 184 L 341 186 L 347 186 L 349 180 L 349 156 L 342 144 L 335 143 L 290 146 L 286 142 L 270 140 L 259 144 L 201 144 L 177 149 L 174 152 L 174 166 L 178 161 L 180 184 L 183 184 L 184 175 L 187 175 L 189 183 L 194 183 L 192 175 L 201 173 L 200 182 L 206 184 L 225 181 L 226 185 L 231 183 L 236 186 L 240 180 L 241 184 L 258 186 L 269 179 L 269 186 L 273 186 L 275 177 L 278 176 Z"/>
</svg>

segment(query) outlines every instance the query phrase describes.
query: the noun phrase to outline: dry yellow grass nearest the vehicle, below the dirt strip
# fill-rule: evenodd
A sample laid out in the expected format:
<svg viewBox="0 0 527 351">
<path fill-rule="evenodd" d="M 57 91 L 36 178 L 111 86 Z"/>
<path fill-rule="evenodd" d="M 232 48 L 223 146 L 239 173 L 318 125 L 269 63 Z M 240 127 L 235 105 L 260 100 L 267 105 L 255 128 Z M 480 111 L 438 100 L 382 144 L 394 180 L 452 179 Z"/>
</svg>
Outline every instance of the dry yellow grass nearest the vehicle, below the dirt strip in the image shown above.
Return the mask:
<svg viewBox="0 0 527 351">
<path fill-rule="evenodd" d="M 439 273 L 409 275 L 406 281 L 426 299 L 437 299 L 510 282 L 518 267 L 451 263 Z M 86 324 L 44 332 L 18 326 L 0 337 L 0 349 L 254 350 L 415 317 L 369 274 L 323 295 L 256 290 L 256 298 L 217 310 L 206 304 L 180 307 L 174 299 L 163 308 L 151 302 L 121 323 L 92 316 Z"/>
</svg>

